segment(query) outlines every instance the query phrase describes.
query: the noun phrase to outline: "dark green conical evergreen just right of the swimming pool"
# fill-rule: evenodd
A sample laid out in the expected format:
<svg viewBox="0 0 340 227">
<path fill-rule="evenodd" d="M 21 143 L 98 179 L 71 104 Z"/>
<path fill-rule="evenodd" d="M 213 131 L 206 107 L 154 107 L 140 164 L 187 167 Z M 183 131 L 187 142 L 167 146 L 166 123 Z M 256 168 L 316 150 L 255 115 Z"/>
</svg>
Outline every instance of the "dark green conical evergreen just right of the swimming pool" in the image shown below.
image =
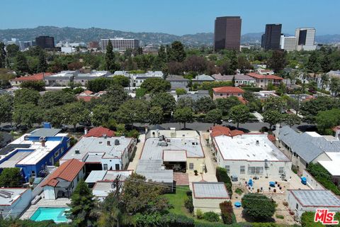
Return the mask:
<svg viewBox="0 0 340 227">
<path fill-rule="evenodd" d="M 71 196 L 71 204 L 67 212 L 67 218 L 72 220 L 72 223 L 79 227 L 86 227 L 94 224 L 96 216 L 96 201 L 91 189 L 87 186 L 83 179 L 78 182 L 76 189 Z"/>
</svg>

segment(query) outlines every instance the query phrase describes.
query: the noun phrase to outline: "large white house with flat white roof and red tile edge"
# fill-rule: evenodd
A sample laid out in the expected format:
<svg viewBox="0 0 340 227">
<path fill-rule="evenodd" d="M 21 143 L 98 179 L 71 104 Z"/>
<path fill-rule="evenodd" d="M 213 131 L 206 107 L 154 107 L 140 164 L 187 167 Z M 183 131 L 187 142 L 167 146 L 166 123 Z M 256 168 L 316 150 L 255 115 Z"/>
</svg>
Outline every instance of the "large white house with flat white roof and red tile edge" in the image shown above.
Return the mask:
<svg viewBox="0 0 340 227">
<path fill-rule="evenodd" d="M 234 179 L 289 179 L 292 162 L 268 139 L 268 134 L 243 133 L 215 126 L 210 137 L 217 165 L 225 167 Z"/>
</svg>

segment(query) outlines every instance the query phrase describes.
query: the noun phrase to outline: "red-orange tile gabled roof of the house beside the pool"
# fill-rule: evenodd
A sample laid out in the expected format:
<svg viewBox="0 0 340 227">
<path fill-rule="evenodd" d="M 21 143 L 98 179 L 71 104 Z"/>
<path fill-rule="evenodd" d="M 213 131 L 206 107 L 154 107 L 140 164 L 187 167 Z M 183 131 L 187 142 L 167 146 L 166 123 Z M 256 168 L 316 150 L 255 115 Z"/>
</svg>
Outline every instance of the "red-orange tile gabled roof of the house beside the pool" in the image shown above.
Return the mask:
<svg viewBox="0 0 340 227">
<path fill-rule="evenodd" d="M 52 175 L 50 175 L 50 177 L 48 177 L 47 180 L 42 183 L 42 187 L 47 185 L 56 187 L 59 183 L 59 179 L 72 182 L 74 178 L 77 177 L 84 165 L 85 162 L 81 162 L 77 159 L 67 160 L 66 162 L 62 163 L 62 165 L 60 165 L 60 167 L 58 167 L 55 172 L 52 172 Z"/>
</svg>

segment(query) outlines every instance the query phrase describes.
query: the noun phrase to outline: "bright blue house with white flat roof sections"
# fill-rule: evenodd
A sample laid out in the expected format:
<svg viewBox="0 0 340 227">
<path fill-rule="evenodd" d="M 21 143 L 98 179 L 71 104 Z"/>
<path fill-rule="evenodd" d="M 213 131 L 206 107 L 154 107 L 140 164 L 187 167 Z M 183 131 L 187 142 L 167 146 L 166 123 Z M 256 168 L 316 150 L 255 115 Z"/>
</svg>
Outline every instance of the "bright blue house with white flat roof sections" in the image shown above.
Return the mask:
<svg viewBox="0 0 340 227">
<path fill-rule="evenodd" d="M 26 182 L 31 177 L 44 176 L 47 165 L 55 165 L 71 146 L 67 133 L 61 129 L 38 128 L 13 140 L 0 150 L 0 169 L 18 167 Z"/>
</svg>

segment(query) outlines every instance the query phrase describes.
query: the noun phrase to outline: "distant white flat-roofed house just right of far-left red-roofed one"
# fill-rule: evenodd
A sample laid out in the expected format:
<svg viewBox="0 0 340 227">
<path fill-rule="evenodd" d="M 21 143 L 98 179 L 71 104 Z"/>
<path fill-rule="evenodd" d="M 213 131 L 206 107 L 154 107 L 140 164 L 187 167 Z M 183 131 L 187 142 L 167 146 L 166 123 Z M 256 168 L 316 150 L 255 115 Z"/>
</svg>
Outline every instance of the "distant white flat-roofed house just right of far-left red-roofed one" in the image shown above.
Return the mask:
<svg viewBox="0 0 340 227">
<path fill-rule="evenodd" d="M 44 78 L 46 86 L 49 87 L 65 87 L 69 86 L 69 83 L 74 82 L 74 77 L 77 77 L 79 70 L 76 71 L 62 71 L 57 74 L 51 74 Z"/>
</svg>

